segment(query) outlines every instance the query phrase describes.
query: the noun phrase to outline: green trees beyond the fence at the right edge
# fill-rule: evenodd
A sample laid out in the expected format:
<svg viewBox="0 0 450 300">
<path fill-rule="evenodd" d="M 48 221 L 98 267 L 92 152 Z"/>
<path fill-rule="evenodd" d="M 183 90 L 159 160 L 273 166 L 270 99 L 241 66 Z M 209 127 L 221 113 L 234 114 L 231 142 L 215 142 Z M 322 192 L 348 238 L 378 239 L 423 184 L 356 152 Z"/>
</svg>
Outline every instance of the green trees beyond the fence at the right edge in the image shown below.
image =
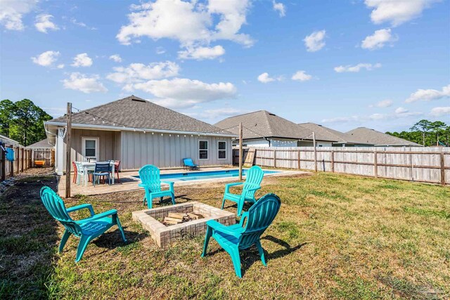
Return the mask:
<svg viewBox="0 0 450 300">
<path fill-rule="evenodd" d="M 424 146 L 441 145 L 450 147 L 450 125 L 442 121 L 431 122 L 422 119 L 411 126 L 409 131 L 387 131 L 386 133 Z"/>
</svg>

